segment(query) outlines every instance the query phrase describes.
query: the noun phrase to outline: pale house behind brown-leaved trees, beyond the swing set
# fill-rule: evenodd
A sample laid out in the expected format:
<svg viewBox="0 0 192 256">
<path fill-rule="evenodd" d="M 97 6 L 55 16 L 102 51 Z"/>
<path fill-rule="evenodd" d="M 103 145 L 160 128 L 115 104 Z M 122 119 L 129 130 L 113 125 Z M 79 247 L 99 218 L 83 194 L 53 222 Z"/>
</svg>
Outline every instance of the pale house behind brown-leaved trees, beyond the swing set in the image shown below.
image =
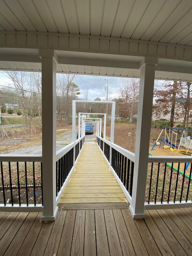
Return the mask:
<svg viewBox="0 0 192 256">
<path fill-rule="evenodd" d="M 176 99 L 174 122 L 183 122 L 184 119 L 184 106 L 185 99 Z M 192 116 L 192 110 L 189 111 L 189 115 Z M 170 120 L 171 117 L 171 101 L 167 104 L 166 112 L 164 110 L 164 104 L 159 102 L 156 104 L 155 109 L 152 112 L 152 120 L 166 119 Z M 191 119 L 191 118 L 190 118 Z M 189 120 L 190 121 L 190 120 Z"/>
</svg>

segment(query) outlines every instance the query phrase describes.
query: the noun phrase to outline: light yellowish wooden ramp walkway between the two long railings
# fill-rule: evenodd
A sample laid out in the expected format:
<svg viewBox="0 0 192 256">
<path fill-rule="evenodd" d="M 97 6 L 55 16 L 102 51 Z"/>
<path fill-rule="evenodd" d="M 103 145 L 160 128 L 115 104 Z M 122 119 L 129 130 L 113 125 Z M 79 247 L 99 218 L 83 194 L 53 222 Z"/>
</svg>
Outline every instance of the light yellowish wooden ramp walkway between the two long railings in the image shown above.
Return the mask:
<svg viewBox="0 0 192 256">
<path fill-rule="evenodd" d="M 128 202 L 96 143 L 85 143 L 61 203 Z"/>
</svg>

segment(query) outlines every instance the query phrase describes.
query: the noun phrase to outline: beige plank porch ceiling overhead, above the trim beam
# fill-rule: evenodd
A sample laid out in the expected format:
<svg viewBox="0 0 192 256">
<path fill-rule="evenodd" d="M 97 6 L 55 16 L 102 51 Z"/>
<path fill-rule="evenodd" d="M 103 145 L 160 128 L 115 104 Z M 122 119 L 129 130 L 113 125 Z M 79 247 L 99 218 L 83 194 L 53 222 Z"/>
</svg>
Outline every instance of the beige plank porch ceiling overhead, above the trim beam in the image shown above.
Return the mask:
<svg viewBox="0 0 192 256">
<path fill-rule="evenodd" d="M 0 31 L 101 35 L 192 46 L 191 0 L 1 0 L 0 6 Z"/>
</svg>

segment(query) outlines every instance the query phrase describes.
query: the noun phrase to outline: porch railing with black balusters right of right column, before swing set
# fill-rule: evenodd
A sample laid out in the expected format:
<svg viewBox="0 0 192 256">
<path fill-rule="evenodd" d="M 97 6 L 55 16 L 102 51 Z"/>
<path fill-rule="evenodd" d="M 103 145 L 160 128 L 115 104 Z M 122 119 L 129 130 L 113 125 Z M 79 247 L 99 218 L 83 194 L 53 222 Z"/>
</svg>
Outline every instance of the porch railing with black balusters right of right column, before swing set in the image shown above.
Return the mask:
<svg viewBox="0 0 192 256">
<path fill-rule="evenodd" d="M 191 156 L 149 156 L 149 193 L 145 209 L 192 207 L 191 159 Z M 173 167 L 174 163 L 177 168 Z M 182 168 L 181 163 L 184 163 Z M 187 163 L 190 163 L 189 175 L 185 170 Z M 163 178 L 159 177 L 160 173 Z"/>
</svg>

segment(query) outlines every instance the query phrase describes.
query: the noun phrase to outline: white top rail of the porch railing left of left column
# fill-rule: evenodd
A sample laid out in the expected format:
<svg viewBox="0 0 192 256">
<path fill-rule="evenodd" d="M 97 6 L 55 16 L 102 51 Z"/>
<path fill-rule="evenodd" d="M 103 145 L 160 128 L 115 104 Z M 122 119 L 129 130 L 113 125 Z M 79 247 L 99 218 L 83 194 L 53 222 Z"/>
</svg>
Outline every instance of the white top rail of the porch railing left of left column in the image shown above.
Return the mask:
<svg viewBox="0 0 192 256">
<path fill-rule="evenodd" d="M 42 155 L 0 154 L 0 162 L 41 162 Z"/>
</svg>

